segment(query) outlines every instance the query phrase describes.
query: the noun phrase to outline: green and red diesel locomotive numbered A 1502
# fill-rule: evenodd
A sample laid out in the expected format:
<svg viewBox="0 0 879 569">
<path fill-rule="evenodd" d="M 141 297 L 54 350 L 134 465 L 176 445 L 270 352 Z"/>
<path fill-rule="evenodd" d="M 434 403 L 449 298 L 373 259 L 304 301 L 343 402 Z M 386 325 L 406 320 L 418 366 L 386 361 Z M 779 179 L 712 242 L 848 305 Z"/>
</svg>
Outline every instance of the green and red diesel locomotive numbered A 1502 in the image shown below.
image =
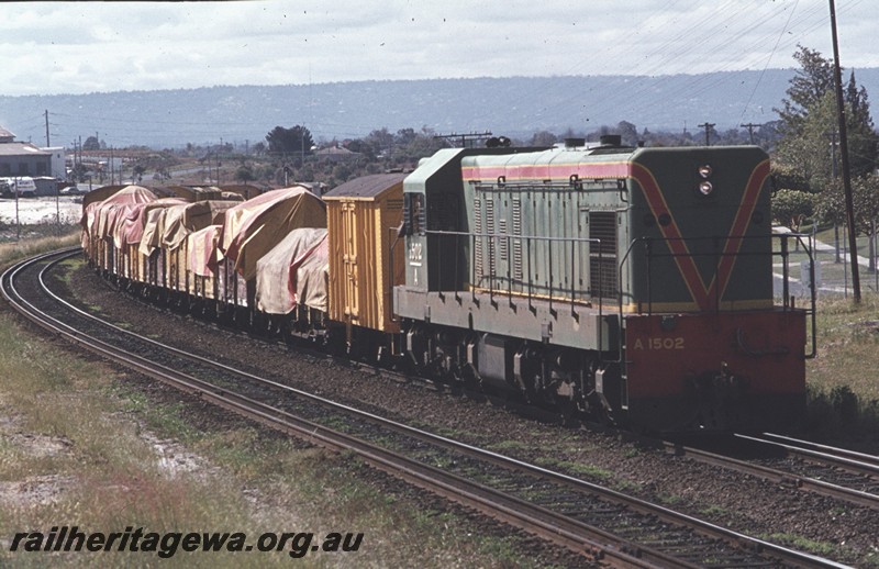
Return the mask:
<svg viewBox="0 0 879 569">
<path fill-rule="evenodd" d="M 394 312 L 429 372 L 656 432 L 801 417 L 814 309 L 776 305 L 759 148 L 442 150 L 404 191 Z"/>
</svg>

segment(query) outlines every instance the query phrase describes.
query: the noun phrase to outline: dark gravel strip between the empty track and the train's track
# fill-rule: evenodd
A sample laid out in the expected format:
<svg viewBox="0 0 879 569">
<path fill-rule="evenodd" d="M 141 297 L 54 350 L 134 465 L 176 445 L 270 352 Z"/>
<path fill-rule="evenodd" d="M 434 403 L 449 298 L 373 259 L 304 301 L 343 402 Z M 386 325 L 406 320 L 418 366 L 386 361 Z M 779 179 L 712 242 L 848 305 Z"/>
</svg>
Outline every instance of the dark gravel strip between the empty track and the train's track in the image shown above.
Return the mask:
<svg viewBox="0 0 879 569">
<path fill-rule="evenodd" d="M 542 424 L 419 383 L 400 383 L 356 368 L 315 362 L 280 344 L 145 306 L 111 290 L 87 269 L 76 274 L 73 288 L 80 301 L 100 306 L 119 321 L 136 323 L 142 333 L 162 335 L 165 342 L 194 353 L 282 375 L 293 387 L 415 422 L 472 444 L 493 445 L 525 460 L 555 467 L 569 465 L 579 476 L 591 472 L 599 482 L 748 535 L 783 535 L 788 539 L 834 545 L 838 560 L 879 562 L 875 560 L 879 556 L 879 516 L 871 510 L 636 446 L 627 443 L 623 434 Z"/>
</svg>

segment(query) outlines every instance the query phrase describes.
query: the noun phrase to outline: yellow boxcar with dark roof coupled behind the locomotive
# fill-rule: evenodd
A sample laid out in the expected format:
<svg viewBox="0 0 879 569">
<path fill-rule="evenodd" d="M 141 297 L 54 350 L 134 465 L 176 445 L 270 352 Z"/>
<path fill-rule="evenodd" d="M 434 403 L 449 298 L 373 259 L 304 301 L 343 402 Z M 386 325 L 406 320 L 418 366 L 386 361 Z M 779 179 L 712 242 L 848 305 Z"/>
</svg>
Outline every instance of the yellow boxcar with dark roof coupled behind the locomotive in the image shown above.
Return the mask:
<svg viewBox="0 0 879 569">
<path fill-rule="evenodd" d="M 400 332 L 392 317 L 391 290 L 403 280 L 403 242 L 397 242 L 403 215 L 403 178 L 404 174 L 366 176 L 324 194 L 331 320 Z"/>
</svg>

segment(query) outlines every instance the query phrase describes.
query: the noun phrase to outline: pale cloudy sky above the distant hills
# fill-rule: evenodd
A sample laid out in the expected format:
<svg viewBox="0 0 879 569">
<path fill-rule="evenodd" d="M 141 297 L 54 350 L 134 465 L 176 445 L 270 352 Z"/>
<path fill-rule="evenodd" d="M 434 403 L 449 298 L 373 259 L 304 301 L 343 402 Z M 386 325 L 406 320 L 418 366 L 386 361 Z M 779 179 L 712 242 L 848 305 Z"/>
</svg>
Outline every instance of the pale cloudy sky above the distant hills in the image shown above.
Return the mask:
<svg viewBox="0 0 879 569">
<path fill-rule="evenodd" d="M 836 0 L 842 65 L 878 67 L 876 0 Z M 794 68 L 830 0 L 249 0 L 0 4 L 7 96 L 218 85 Z"/>
</svg>

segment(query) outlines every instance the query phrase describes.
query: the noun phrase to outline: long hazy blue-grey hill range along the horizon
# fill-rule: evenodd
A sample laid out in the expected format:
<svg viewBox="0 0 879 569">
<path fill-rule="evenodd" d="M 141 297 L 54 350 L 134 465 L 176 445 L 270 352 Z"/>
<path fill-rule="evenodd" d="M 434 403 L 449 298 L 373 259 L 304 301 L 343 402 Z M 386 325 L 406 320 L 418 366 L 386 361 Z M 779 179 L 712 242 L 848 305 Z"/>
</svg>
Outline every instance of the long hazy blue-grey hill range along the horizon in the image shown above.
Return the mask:
<svg viewBox="0 0 879 569">
<path fill-rule="evenodd" d="M 728 71 L 655 77 L 512 77 L 210 87 L 156 91 L 0 97 L 0 126 L 19 141 L 71 145 L 98 137 L 109 146 L 179 147 L 255 144 L 275 126 L 304 124 L 315 141 L 360 137 L 387 127 L 438 134 L 491 131 L 589 133 L 627 121 L 639 131 L 723 131 L 778 115 L 793 71 Z M 847 72 L 845 80 L 847 80 Z M 879 97 L 879 68 L 857 69 Z M 876 99 L 874 99 L 876 100 Z M 876 108 L 874 108 L 876 111 Z"/>
</svg>

